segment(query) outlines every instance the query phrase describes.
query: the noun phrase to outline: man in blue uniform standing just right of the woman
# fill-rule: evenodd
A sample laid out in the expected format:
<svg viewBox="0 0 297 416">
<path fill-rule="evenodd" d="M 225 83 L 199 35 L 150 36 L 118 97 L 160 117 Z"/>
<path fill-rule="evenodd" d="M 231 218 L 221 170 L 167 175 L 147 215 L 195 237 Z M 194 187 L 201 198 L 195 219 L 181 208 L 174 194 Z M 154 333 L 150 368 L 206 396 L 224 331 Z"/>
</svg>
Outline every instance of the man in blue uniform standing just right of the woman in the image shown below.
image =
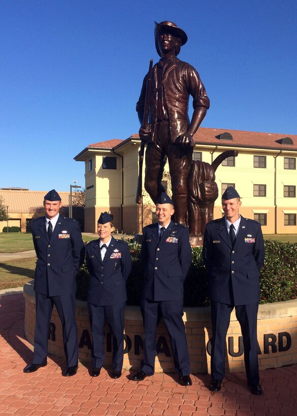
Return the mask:
<svg viewBox="0 0 297 416">
<path fill-rule="evenodd" d="M 174 366 L 183 386 L 192 385 L 183 316 L 183 282 L 191 266 L 188 228 L 171 221 L 173 202 L 163 192 L 157 201 L 158 223 L 143 228 L 141 262 L 144 269 L 141 314 L 144 326 L 143 360 L 131 379 L 154 374 L 158 317 L 169 333 Z"/>
</svg>

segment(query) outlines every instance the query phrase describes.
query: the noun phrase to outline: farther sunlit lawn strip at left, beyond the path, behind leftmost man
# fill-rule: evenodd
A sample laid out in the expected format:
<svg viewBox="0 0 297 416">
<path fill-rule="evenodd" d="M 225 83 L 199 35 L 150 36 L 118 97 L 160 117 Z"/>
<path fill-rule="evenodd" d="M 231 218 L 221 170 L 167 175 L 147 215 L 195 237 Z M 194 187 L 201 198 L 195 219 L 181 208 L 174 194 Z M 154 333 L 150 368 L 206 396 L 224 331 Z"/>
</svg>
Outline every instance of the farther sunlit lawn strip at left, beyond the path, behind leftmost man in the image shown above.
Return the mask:
<svg viewBox="0 0 297 416">
<path fill-rule="evenodd" d="M 96 237 L 95 237 L 96 238 Z M 83 235 L 84 241 L 93 240 L 94 237 Z M 32 235 L 29 232 L 0 233 L 0 253 L 17 253 L 34 250 Z"/>
</svg>

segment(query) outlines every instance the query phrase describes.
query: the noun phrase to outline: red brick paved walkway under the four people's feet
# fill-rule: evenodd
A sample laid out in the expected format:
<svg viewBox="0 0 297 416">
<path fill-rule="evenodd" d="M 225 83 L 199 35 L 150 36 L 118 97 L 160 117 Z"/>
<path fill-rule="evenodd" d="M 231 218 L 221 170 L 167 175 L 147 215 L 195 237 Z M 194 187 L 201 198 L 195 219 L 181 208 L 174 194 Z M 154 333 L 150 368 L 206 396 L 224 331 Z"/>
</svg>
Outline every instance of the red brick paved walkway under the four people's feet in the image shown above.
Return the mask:
<svg viewBox="0 0 297 416">
<path fill-rule="evenodd" d="M 193 375 L 193 386 L 177 384 L 175 374 L 155 374 L 131 382 L 129 372 L 113 380 L 107 371 L 91 378 L 82 363 L 77 375 L 63 377 L 63 359 L 48 358 L 47 367 L 24 374 L 32 360 L 32 346 L 24 338 L 22 294 L 0 296 L 0 413 L 21 416 L 89 414 L 132 416 L 162 414 L 295 416 L 297 364 L 261 371 L 263 396 L 253 396 L 244 373 L 229 374 L 219 393 L 205 387 L 209 375 Z"/>
</svg>

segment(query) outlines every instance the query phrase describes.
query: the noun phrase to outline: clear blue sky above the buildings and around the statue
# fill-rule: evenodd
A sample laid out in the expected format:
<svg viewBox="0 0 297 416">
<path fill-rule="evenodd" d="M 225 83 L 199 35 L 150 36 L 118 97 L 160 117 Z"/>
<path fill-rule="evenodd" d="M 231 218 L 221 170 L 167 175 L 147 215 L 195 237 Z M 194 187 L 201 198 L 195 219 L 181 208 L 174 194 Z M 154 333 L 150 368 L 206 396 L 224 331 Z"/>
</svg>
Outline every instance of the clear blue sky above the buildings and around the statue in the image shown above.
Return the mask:
<svg viewBox="0 0 297 416">
<path fill-rule="evenodd" d="M 0 16 L 0 187 L 84 187 L 73 157 L 138 132 L 155 20 L 188 34 L 203 127 L 297 134 L 295 0 L 1 0 Z"/>
</svg>

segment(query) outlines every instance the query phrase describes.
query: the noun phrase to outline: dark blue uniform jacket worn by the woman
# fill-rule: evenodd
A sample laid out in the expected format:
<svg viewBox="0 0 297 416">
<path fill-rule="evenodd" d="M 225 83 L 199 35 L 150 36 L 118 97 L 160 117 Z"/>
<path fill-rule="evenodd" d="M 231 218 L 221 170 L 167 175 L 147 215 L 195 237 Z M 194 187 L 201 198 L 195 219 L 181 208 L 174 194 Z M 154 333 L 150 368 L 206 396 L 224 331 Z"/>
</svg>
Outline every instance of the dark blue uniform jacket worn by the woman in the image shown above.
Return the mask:
<svg viewBox="0 0 297 416">
<path fill-rule="evenodd" d="M 90 241 L 86 246 L 86 259 L 91 274 L 88 302 L 97 306 L 125 302 L 126 281 L 132 266 L 127 242 L 112 237 L 102 261 L 99 239 Z"/>
</svg>

